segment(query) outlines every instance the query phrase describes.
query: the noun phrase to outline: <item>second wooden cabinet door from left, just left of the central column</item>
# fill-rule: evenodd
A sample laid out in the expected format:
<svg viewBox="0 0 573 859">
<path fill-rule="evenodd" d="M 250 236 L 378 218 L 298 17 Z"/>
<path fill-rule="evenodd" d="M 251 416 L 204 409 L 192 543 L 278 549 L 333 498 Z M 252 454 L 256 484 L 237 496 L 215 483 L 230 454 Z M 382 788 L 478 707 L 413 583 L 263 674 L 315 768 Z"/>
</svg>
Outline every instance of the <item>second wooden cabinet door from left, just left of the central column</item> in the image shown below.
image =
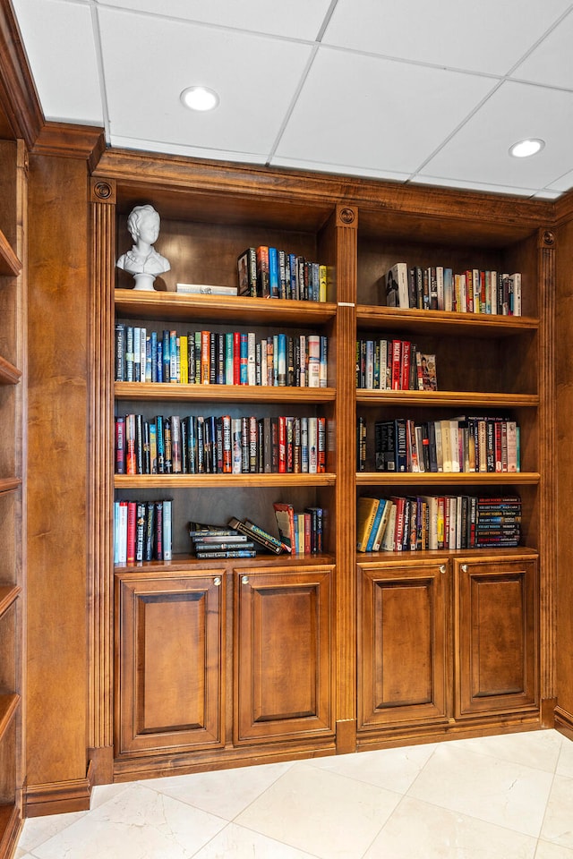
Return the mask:
<svg viewBox="0 0 573 859">
<path fill-rule="evenodd" d="M 332 574 L 235 574 L 235 744 L 333 734 Z"/>
</svg>

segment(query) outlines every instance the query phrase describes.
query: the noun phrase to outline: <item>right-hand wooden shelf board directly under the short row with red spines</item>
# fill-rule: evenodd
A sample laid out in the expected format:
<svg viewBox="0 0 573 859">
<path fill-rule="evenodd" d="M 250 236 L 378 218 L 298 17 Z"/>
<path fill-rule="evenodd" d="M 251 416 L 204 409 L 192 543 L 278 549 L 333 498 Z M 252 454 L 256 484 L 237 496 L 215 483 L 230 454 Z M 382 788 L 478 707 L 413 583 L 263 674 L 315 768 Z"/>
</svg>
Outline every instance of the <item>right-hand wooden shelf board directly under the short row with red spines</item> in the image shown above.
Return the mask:
<svg viewBox="0 0 573 859">
<path fill-rule="evenodd" d="M 539 405 L 536 394 L 493 394 L 482 391 L 375 391 L 359 388 L 356 404 L 360 405 L 427 405 L 475 406 L 476 408 L 516 409 Z"/>
</svg>

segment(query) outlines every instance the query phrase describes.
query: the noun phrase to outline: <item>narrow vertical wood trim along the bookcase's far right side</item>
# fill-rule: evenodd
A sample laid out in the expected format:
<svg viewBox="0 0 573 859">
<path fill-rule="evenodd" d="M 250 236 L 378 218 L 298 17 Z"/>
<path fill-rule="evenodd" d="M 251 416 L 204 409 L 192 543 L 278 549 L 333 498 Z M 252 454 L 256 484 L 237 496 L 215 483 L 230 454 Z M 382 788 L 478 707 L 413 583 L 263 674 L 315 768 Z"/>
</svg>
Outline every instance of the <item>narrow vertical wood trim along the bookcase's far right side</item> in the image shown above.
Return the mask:
<svg viewBox="0 0 573 859">
<path fill-rule="evenodd" d="M 555 283 L 556 235 L 552 229 L 538 232 L 539 307 L 539 457 L 541 505 L 544 523 L 557 522 L 557 426 L 555 416 Z M 552 528 L 540 528 L 540 654 L 541 697 L 556 695 L 555 648 L 557 630 L 557 542 Z"/>
</svg>

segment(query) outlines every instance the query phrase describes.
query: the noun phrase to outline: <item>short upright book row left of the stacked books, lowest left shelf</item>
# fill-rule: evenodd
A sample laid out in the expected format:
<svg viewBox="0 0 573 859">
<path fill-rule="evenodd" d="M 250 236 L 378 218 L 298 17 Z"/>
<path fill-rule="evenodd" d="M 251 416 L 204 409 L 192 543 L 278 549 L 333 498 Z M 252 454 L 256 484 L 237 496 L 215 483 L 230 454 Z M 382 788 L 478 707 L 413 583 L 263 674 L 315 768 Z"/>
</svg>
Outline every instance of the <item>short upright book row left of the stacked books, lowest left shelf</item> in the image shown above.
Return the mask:
<svg viewBox="0 0 573 859">
<path fill-rule="evenodd" d="M 114 563 L 169 561 L 172 556 L 172 501 L 114 502 Z"/>
</svg>

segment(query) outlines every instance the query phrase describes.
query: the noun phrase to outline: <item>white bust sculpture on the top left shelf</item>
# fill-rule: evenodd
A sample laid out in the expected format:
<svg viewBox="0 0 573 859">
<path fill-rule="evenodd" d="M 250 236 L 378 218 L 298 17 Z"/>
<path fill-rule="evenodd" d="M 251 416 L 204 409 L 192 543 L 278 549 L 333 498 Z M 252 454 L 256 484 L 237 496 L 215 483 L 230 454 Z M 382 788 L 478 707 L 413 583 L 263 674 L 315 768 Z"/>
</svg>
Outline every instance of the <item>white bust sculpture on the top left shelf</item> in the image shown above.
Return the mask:
<svg viewBox="0 0 573 859">
<path fill-rule="evenodd" d="M 153 289 L 155 278 L 171 268 L 169 260 L 153 247 L 159 235 L 158 212 L 149 203 L 135 206 L 127 218 L 127 229 L 133 238 L 133 248 L 122 254 L 116 266 L 133 275 L 135 289 Z"/>
</svg>

